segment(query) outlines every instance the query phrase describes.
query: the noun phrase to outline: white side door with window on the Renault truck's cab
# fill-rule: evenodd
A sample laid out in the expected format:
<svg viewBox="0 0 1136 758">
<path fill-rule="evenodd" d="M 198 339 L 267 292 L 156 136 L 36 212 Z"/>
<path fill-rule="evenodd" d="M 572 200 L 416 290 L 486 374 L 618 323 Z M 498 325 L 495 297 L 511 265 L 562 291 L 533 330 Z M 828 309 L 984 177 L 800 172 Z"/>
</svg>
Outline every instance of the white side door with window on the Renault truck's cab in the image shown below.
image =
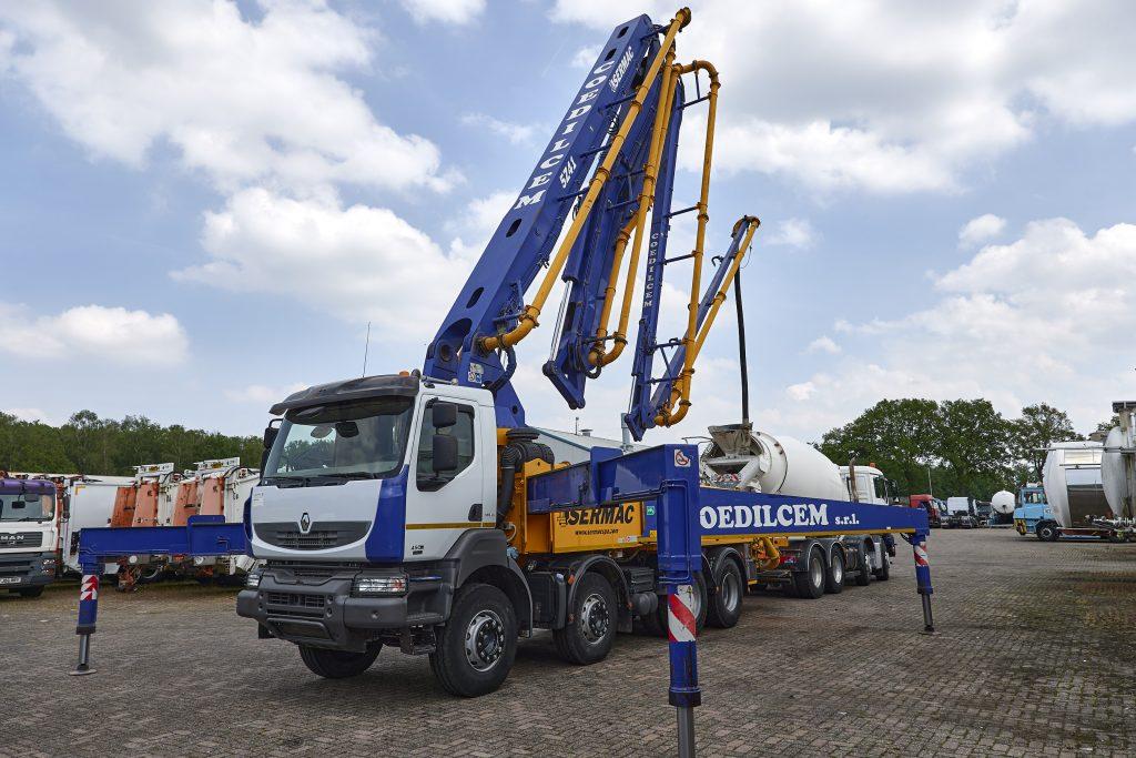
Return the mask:
<svg viewBox="0 0 1136 758">
<path fill-rule="evenodd" d="M 476 402 L 442 395 L 427 395 L 419 406 L 407 482 L 407 560 L 442 558 L 466 530 L 486 520 L 492 526 L 483 478 L 496 451 L 486 449 L 478 433 L 483 413 Z"/>
</svg>

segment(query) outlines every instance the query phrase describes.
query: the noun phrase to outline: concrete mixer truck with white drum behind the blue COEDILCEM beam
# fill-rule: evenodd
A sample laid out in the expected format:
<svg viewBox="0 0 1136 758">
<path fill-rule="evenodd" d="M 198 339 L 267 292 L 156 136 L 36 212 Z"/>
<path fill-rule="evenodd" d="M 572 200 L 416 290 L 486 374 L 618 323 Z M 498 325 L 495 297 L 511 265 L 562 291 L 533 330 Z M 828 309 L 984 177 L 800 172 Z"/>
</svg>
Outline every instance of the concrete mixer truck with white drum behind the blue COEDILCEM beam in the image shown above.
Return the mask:
<svg viewBox="0 0 1136 758">
<path fill-rule="evenodd" d="M 707 486 L 749 490 L 768 494 L 788 494 L 818 500 L 857 500 L 850 492 L 841 469 L 812 445 L 791 436 L 754 431 L 749 424 L 710 427 L 710 445 L 699 456 L 702 481 Z M 867 467 L 857 467 L 855 475 Z M 878 469 L 870 469 L 883 477 Z M 868 492 L 876 491 L 868 482 Z M 861 501 L 866 501 L 860 498 Z M 825 564 L 811 560 L 820 545 Z M 844 576 L 867 585 L 875 576 L 886 581 L 891 572 L 888 556 L 895 556 L 895 542 L 889 535 L 857 534 L 841 538 L 801 538 L 774 540 L 769 545 L 759 583 L 769 589 L 787 589 L 797 597 L 820 597 L 811 588 L 819 584 L 824 572 L 825 591 L 840 592 Z M 809 556 L 809 560 L 804 559 Z"/>
</svg>

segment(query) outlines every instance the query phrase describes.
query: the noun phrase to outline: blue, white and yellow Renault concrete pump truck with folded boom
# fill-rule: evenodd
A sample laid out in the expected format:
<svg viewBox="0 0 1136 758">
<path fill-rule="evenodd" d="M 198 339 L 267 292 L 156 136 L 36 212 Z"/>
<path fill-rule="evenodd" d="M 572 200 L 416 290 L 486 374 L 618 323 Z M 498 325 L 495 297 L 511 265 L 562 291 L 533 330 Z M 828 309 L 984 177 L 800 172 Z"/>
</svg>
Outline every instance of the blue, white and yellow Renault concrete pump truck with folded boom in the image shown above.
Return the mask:
<svg viewBox="0 0 1136 758">
<path fill-rule="evenodd" d="M 644 248 L 624 423 L 638 440 L 690 409 L 695 359 L 759 225 L 737 222 L 703 286 L 719 81 L 709 63 L 676 63 L 690 20 L 682 9 L 666 25 L 640 16 L 615 28 L 420 370 L 312 386 L 272 408 L 281 418 L 265 432 L 244 517 L 250 552 L 266 563 L 249 574 L 237 613 L 261 638 L 295 643 L 316 674 L 359 674 L 392 647 L 428 655 L 446 691 L 471 697 L 502 683 L 518 638 L 537 628 L 575 664 L 604 658 L 636 619 L 669 624 L 674 639 L 675 606 L 668 619 L 659 601 L 669 555 L 660 519 L 674 498 L 695 514 L 702 543 L 691 625 L 737 622 L 746 584 L 777 564 L 774 534 L 904 533 L 919 563 L 921 513 L 702 486 L 686 444 L 595 448 L 585 463 L 558 465 L 526 426 L 515 345 L 537 327 L 557 277 L 566 294 L 543 373 L 580 408 L 587 381 L 628 347 Z M 673 209 L 683 114 L 702 102 L 700 194 Z M 671 219 L 685 213 L 695 214 L 694 248 L 668 258 Z M 693 270 L 685 333 L 659 339 L 665 273 L 680 260 Z M 875 563 L 861 570 L 878 572 L 886 557 L 863 560 Z M 929 575 L 925 589 L 929 627 Z"/>
</svg>

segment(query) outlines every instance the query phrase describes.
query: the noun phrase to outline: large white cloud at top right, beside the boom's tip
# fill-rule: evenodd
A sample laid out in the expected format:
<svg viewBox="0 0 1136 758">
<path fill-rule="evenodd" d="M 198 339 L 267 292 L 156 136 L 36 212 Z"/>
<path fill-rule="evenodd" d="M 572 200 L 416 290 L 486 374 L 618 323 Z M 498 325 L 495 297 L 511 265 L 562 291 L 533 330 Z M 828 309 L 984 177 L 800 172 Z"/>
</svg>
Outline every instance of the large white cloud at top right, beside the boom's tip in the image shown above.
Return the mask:
<svg viewBox="0 0 1136 758">
<path fill-rule="evenodd" d="M 552 17 L 600 31 L 662 0 L 558 0 Z M 1136 119 L 1136 5 L 964 0 L 708 0 L 680 58 L 721 72 L 716 163 L 815 191 L 954 192 L 969 172 L 1054 119 Z M 694 142 L 694 141 L 687 141 Z M 690 145 L 687 145 L 690 147 Z M 684 165 L 700 165 L 698 145 Z"/>
</svg>

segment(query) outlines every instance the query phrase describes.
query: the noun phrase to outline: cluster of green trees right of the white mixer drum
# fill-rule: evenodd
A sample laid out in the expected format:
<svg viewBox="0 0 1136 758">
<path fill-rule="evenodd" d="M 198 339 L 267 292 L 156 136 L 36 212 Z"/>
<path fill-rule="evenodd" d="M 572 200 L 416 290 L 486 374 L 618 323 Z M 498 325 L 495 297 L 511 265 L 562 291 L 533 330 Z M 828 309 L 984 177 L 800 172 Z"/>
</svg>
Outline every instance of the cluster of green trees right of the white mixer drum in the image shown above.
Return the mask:
<svg viewBox="0 0 1136 758">
<path fill-rule="evenodd" d="M 816 447 L 840 464 L 875 464 L 905 494 L 989 500 L 1041 482 L 1051 442 L 1084 439 L 1068 414 L 1044 402 L 1006 418 L 988 400 L 908 398 L 880 400 Z"/>
</svg>

